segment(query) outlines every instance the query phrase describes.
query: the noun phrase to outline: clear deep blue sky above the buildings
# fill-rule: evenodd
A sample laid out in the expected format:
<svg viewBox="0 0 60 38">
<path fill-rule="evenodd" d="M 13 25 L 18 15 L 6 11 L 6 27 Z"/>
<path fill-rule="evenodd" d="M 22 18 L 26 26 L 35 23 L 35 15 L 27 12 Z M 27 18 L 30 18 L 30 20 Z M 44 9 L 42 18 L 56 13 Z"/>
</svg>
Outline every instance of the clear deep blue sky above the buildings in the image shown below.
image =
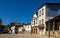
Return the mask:
<svg viewBox="0 0 60 38">
<path fill-rule="evenodd" d="M 60 2 L 60 0 L 46 1 Z M 34 8 L 37 10 L 43 2 L 44 0 L 0 0 L 0 18 L 3 24 L 30 22 Z"/>
</svg>

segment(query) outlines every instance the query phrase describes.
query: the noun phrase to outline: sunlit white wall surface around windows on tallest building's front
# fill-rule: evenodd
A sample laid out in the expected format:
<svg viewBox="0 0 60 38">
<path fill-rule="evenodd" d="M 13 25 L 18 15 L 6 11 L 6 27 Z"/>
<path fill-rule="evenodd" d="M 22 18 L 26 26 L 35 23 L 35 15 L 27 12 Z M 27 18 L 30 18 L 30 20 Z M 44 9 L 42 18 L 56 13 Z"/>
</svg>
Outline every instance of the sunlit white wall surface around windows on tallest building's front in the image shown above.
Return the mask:
<svg viewBox="0 0 60 38">
<path fill-rule="evenodd" d="M 44 15 L 42 15 L 42 9 L 44 9 Z M 41 11 L 41 12 L 40 12 Z M 41 16 L 40 16 L 41 14 Z M 46 25 L 45 25 L 45 20 L 46 20 L 46 5 L 44 5 L 42 8 L 40 8 L 38 10 L 38 25 L 42 24 L 42 19 L 44 19 L 44 29 L 43 30 L 39 30 L 40 34 L 45 34 L 45 29 L 46 29 Z M 41 20 L 41 22 L 40 22 Z"/>
</svg>

